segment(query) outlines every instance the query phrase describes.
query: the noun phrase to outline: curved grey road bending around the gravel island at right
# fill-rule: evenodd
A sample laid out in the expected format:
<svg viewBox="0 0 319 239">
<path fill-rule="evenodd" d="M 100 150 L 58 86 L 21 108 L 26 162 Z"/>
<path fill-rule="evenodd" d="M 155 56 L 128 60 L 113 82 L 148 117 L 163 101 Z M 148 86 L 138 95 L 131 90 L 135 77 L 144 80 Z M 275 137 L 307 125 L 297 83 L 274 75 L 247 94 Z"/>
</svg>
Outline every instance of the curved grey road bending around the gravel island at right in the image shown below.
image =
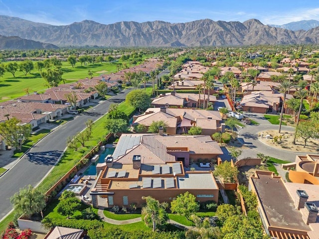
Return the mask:
<svg viewBox="0 0 319 239">
<path fill-rule="evenodd" d="M 264 130 L 278 130 L 279 125 L 275 124 L 259 124 L 245 127 L 238 131 L 238 140 L 248 148 L 269 155 L 271 157 L 279 158 L 294 162 L 296 155 L 305 155 L 306 153 L 292 152 L 284 149 L 273 148 L 267 144 L 262 143 L 258 139 L 258 132 Z M 283 131 L 294 130 L 291 126 L 282 125 Z"/>
</svg>

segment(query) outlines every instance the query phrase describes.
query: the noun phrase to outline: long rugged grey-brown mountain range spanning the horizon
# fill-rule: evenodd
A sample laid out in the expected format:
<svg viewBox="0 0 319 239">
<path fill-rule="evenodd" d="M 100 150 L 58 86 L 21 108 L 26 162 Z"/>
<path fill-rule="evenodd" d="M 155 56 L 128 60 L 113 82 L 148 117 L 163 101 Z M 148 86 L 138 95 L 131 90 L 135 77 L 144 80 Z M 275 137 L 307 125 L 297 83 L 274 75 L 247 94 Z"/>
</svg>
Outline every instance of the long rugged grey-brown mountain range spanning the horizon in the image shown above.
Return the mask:
<svg viewBox="0 0 319 239">
<path fill-rule="evenodd" d="M 55 26 L 0 15 L 0 35 L 19 36 L 57 46 L 241 46 L 258 44 L 318 44 L 319 27 L 292 31 L 244 22 L 196 20 L 186 23 L 122 21 L 101 24 L 84 20 Z"/>
</svg>

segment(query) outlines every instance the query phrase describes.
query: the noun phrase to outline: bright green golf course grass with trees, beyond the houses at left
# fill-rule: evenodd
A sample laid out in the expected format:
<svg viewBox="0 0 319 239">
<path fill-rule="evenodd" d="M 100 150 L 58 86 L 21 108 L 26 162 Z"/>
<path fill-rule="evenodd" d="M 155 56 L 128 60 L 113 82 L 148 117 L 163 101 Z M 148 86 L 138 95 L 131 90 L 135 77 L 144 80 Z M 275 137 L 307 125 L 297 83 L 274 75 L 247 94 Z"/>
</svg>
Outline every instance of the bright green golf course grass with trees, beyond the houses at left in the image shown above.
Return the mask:
<svg viewBox="0 0 319 239">
<path fill-rule="evenodd" d="M 4 63 L 4 65 L 5 64 L 6 63 Z M 116 72 L 118 64 L 122 64 L 122 62 L 104 62 L 102 64 L 96 63 L 86 66 L 81 66 L 81 64 L 77 62 L 75 67 L 72 68 L 68 62 L 62 62 L 62 78 L 65 80 L 65 83 L 72 83 L 79 79 L 88 77 L 88 70 L 93 72 L 93 76 Z M 61 84 L 62 83 L 63 82 L 61 82 Z M 26 76 L 24 73 L 17 71 L 15 73 L 15 78 L 11 73 L 5 72 L 3 77 L 0 79 L 0 87 L 0 102 L 25 95 L 25 89 L 28 89 L 29 93 L 34 91 L 44 92 L 47 89 L 46 81 L 41 77 L 41 74 L 36 69 L 33 69 L 31 74 L 27 74 Z"/>
</svg>

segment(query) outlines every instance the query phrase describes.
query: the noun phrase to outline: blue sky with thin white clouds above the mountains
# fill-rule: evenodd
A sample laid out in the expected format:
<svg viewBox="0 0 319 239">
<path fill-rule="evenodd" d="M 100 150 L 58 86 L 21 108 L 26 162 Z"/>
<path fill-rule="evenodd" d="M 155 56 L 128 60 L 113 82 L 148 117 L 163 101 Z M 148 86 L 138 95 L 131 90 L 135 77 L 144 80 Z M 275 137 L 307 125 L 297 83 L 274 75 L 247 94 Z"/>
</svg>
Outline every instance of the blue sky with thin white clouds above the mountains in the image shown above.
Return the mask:
<svg viewBox="0 0 319 239">
<path fill-rule="evenodd" d="M 264 24 L 319 20 L 318 0 L 0 0 L 0 14 L 53 25 L 85 19 L 171 23 L 209 18 Z"/>
</svg>

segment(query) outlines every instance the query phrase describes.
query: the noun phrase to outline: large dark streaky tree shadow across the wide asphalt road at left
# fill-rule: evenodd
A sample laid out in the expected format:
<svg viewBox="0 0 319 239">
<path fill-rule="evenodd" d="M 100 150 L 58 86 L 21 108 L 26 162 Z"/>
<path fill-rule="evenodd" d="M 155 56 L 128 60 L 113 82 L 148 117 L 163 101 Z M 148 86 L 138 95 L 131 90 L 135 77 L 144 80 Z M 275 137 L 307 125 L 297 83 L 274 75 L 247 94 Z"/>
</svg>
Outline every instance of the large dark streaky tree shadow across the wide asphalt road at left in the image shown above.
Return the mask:
<svg viewBox="0 0 319 239">
<path fill-rule="evenodd" d="M 62 151 L 52 150 L 44 152 L 26 153 L 26 156 L 30 162 L 41 165 L 54 165 Z"/>
</svg>

